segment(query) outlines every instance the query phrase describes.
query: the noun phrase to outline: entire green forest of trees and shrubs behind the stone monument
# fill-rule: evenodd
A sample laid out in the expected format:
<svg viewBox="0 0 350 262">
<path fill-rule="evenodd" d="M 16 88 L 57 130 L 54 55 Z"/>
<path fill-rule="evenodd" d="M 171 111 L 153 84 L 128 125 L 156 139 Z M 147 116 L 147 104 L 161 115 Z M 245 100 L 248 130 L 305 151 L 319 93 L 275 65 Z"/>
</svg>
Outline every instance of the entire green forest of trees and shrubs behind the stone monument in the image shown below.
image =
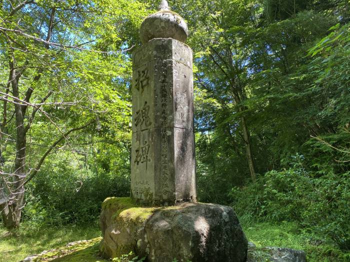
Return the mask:
<svg viewBox="0 0 350 262">
<path fill-rule="evenodd" d="M 157 4 L 0 0 L 3 230 L 95 225 L 130 194 L 130 57 Z M 169 4 L 194 54 L 199 200 L 350 259 L 350 2 Z"/>
</svg>

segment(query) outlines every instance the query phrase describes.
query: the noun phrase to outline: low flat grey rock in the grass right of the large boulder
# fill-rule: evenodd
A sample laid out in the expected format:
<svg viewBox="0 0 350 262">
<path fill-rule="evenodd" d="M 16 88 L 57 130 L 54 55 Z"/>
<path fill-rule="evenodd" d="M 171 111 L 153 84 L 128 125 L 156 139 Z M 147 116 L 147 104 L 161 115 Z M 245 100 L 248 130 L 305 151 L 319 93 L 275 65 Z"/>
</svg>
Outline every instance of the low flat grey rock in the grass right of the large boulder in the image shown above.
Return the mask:
<svg viewBox="0 0 350 262">
<path fill-rule="evenodd" d="M 248 243 L 248 257 L 246 262 L 306 262 L 305 252 L 292 248 L 263 247 L 258 248 L 254 243 Z"/>
</svg>

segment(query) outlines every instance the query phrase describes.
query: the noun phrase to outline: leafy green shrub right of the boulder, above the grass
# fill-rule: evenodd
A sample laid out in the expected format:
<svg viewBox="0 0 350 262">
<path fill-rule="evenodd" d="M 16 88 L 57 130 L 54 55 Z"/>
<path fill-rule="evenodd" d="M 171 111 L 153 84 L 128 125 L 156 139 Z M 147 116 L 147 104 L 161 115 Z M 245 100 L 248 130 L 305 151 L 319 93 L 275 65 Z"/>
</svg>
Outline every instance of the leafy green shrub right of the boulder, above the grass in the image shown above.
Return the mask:
<svg viewBox="0 0 350 262">
<path fill-rule="evenodd" d="M 350 172 L 317 177 L 302 167 L 302 156 L 295 160 L 287 170 L 272 170 L 256 183 L 232 188 L 236 212 L 247 221 L 296 221 L 349 249 Z"/>
</svg>

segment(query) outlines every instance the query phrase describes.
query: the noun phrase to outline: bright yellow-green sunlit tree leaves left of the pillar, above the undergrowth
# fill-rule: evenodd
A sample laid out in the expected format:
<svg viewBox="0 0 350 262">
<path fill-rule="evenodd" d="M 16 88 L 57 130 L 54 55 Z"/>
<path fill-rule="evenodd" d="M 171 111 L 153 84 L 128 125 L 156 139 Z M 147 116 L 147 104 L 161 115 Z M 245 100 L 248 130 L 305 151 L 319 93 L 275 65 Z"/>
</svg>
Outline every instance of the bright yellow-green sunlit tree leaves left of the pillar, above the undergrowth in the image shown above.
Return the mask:
<svg viewBox="0 0 350 262">
<path fill-rule="evenodd" d="M 1 26 L 8 30 L 0 30 L 0 44 L 4 47 L 0 49 L 4 65 L 0 83 L 7 82 L 10 60 L 21 70 L 19 98 L 32 88 L 30 103 L 40 103 L 51 92 L 30 122 L 27 169 L 62 132 L 91 120 L 94 126 L 85 133 L 71 134 L 74 139 L 86 145 L 93 139 L 106 141 L 104 145 L 124 142 L 117 151 L 106 148 L 106 153 L 120 153 L 120 159 L 127 164 L 124 157 L 130 140 L 131 63 L 130 53 L 122 49 L 138 41 L 134 32 L 149 13 L 145 7 L 135 0 L 37 0 L 2 22 Z M 11 8 L 9 1 L 4 1 L 1 18 Z M 35 77 L 37 80 L 33 80 Z M 33 109 L 28 107 L 25 123 Z M 11 104 L 7 110 L 11 115 Z M 14 127 L 13 121 L 7 124 L 10 137 L 15 137 Z M 14 144 L 11 140 L 6 143 L 10 152 Z M 76 147 L 70 144 L 72 140 L 67 137 L 60 146 L 71 150 L 74 159 Z M 102 144 L 101 148 L 105 147 Z"/>
</svg>

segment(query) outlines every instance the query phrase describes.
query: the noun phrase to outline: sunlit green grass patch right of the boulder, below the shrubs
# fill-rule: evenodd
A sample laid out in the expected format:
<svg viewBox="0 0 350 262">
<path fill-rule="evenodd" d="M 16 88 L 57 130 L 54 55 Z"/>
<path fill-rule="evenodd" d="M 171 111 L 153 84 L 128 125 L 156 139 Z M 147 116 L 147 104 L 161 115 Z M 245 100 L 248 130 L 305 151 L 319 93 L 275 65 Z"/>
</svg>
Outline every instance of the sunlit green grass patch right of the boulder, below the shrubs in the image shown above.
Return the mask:
<svg viewBox="0 0 350 262">
<path fill-rule="evenodd" d="M 242 223 L 243 231 L 256 247 L 278 246 L 304 250 L 308 262 L 350 261 L 350 253 L 340 251 L 315 233 L 301 230 L 297 224 L 283 222 Z"/>
</svg>

